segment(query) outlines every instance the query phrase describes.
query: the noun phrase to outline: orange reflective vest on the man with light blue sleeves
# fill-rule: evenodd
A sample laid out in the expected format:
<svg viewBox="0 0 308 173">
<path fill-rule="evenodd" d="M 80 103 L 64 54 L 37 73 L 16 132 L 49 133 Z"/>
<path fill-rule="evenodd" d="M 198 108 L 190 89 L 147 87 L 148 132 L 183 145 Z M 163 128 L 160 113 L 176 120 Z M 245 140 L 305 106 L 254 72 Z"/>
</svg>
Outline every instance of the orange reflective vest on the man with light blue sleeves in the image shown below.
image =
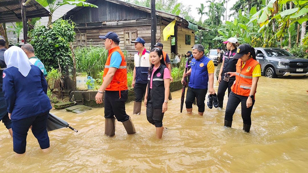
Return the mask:
<svg viewBox="0 0 308 173">
<path fill-rule="evenodd" d="M 105 89 L 106 91 L 119 91 L 119 95 L 121 98 L 121 91 L 127 90 L 127 68 L 126 68 L 126 60 L 124 57 L 123 52 L 120 50 L 119 46 L 116 46 L 108 51 L 108 58 L 105 64 L 105 69 L 104 69 L 104 75 L 103 75 L 103 80 L 105 79 L 105 76 L 108 73 L 109 66 L 110 66 L 110 58 L 113 52 L 119 52 L 121 57 L 122 57 L 122 62 L 120 64 L 120 67 L 118 70 L 115 71 L 115 75 L 113 76 L 110 84 L 107 86 Z"/>
</svg>

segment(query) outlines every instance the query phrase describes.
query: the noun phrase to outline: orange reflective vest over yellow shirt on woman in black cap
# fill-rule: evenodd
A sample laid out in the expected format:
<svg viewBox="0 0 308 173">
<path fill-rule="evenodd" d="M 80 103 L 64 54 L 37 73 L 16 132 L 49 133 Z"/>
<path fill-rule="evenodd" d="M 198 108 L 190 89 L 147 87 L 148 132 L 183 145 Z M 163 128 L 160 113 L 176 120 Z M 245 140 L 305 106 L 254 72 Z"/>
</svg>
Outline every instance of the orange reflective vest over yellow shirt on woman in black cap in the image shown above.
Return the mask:
<svg viewBox="0 0 308 173">
<path fill-rule="evenodd" d="M 257 64 L 259 64 L 259 62 L 250 58 L 246 61 L 243 69 L 241 69 L 243 62 L 240 59 L 237 61 L 235 81 L 231 87 L 232 92 L 237 95 L 249 96 L 252 86 L 252 72 Z M 257 91 L 255 91 L 253 95 L 255 95 L 256 92 Z"/>
</svg>

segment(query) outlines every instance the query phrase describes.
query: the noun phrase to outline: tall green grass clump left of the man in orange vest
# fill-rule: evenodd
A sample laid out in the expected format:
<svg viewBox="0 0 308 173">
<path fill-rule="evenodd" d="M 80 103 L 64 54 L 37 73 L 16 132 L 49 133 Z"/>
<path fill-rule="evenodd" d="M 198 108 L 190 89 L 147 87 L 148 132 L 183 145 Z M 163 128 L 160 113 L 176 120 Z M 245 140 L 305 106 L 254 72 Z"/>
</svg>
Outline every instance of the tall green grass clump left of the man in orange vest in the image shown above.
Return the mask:
<svg viewBox="0 0 308 173">
<path fill-rule="evenodd" d="M 76 70 L 87 72 L 92 78 L 98 78 L 108 58 L 108 50 L 102 46 L 77 47 L 74 50 Z"/>
</svg>

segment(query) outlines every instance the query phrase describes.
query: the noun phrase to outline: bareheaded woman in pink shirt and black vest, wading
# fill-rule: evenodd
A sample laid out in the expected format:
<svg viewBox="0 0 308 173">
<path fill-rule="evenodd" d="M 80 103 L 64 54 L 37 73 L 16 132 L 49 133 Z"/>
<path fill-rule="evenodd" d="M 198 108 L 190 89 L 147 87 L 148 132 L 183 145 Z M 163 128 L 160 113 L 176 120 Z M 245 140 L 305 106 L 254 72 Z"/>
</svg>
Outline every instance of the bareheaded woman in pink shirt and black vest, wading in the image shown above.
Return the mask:
<svg viewBox="0 0 308 173">
<path fill-rule="evenodd" d="M 156 137 L 161 139 L 164 131 L 164 112 L 168 110 L 170 72 L 164 62 L 161 49 L 156 47 L 151 50 L 150 61 L 152 66 L 148 71 L 148 86 L 144 96 L 144 105 L 147 107 L 148 122 L 155 125 Z"/>
</svg>

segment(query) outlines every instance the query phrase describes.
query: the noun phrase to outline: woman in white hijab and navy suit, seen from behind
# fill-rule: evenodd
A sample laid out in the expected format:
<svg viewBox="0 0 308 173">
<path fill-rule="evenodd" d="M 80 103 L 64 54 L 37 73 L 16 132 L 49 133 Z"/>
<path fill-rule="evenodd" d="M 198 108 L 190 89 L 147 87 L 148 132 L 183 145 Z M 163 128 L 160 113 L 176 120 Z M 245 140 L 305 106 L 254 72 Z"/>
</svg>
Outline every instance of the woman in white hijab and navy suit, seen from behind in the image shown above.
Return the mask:
<svg viewBox="0 0 308 173">
<path fill-rule="evenodd" d="M 3 92 L 7 111 L 12 120 L 13 150 L 26 152 L 29 127 L 43 151 L 48 150 L 46 123 L 52 108 L 47 97 L 47 82 L 39 67 L 31 65 L 25 52 L 12 46 L 4 53 Z"/>
</svg>

